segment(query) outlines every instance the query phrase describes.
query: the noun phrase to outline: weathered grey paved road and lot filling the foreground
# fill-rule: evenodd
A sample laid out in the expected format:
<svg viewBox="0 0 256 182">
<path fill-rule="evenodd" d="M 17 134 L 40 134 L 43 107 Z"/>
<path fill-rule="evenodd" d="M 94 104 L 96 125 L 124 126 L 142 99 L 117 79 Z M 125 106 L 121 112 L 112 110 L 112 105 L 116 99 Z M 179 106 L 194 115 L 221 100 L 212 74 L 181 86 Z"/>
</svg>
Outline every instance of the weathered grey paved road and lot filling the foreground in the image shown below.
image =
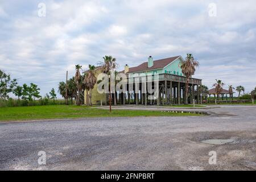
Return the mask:
<svg viewBox="0 0 256 182">
<path fill-rule="evenodd" d="M 2 122 L 0 169 L 255 170 L 256 106 L 197 110 L 212 115 Z M 207 139 L 234 142 L 201 142 Z M 46 165 L 38 164 L 39 151 Z"/>
</svg>

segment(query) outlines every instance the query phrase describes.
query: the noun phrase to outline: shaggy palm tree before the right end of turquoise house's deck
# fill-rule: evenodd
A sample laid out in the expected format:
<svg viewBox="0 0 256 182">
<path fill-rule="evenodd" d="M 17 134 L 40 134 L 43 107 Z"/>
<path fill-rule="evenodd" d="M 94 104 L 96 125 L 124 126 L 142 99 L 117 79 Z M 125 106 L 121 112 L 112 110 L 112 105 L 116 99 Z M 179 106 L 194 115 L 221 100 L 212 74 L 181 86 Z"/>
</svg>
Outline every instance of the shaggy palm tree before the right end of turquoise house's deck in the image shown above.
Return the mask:
<svg viewBox="0 0 256 182">
<path fill-rule="evenodd" d="M 196 67 L 199 66 L 199 62 L 194 60 L 194 57 L 191 53 L 187 53 L 187 57 L 185 61 L 181 61 L 180 68 L 182 69 L 182 73 L 187 77 L 186 85 L 185 85 L 185 104 L 188 104 L 188 83 L 189 78 L 195 74 Z"/>
</svg>

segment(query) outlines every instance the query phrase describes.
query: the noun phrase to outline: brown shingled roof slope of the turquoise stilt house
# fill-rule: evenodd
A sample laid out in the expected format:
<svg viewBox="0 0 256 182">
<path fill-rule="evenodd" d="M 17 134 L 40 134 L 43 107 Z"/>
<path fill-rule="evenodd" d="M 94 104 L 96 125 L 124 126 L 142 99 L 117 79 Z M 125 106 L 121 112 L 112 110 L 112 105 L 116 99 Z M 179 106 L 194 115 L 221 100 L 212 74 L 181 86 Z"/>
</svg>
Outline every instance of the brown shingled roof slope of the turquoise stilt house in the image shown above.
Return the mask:
<svg viewBox="0 0 256 182">
<path fill-rule="evenodd" d="M 166 67 L 168 64 L 172 63 L 173 61 L 175 61 L 179 57 L 180 56 L 175 56 L 175 57 L 168 57 L 168 58 L 165 58 L 165 59 L 155 60 L 154 65 L 150 68 L 147 67 L 147 61 L 146 61 L 146 62 L 138 65 L 137 67 L 129 68 L 128 73 L 142 72 L 142 71 L 148 71 L 148 70 L 152 70 L 152 69 L 161 69 L 161 68 Z"/>
</svg>

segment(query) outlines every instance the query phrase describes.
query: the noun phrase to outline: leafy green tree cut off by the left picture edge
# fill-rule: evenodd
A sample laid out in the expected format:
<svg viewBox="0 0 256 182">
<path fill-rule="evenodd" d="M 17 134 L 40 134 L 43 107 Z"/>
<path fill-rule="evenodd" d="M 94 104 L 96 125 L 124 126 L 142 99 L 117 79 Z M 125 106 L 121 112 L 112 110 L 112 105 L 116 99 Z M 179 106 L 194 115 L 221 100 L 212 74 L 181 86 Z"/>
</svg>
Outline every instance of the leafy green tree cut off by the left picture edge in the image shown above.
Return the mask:
<svg viewBox="0 0 256 182">
<path fill-rule="evenodd" d="M 10 74 L 6 74 L 0 69 L 0 98 L 6 100 L 9 98 L 8 93 L 13 91 L 13 88 L 17 85 L 17 80 L 11 80 Z"/>
</svg>

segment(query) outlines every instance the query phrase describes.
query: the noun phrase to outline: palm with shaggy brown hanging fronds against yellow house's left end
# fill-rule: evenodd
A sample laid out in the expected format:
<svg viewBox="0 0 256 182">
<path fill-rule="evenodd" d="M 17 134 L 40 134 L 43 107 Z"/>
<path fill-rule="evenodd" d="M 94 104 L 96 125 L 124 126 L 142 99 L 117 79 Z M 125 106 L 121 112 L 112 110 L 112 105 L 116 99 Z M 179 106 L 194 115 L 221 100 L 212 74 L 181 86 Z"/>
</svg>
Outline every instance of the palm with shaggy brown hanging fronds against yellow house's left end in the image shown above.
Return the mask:
<svg viewBox="0 0 256 182">
<path fill-rule="evenodd" d="M 89 64 L 89 70 L 88 72 L 86 72 L 86 75 L 84 77 L 84 84 L 86 85 L 86 105 L 92 105 L 92 89 L 94 88 L 94 85 L 96 84 L 97 82 L 97 77 L 95 76 L 95 66 L 94 65 L 90 65 Z M 90 100 L 88 103 L 88 90 L 89 90 L 89 93 L 90 93 Z"/>
</svg>

